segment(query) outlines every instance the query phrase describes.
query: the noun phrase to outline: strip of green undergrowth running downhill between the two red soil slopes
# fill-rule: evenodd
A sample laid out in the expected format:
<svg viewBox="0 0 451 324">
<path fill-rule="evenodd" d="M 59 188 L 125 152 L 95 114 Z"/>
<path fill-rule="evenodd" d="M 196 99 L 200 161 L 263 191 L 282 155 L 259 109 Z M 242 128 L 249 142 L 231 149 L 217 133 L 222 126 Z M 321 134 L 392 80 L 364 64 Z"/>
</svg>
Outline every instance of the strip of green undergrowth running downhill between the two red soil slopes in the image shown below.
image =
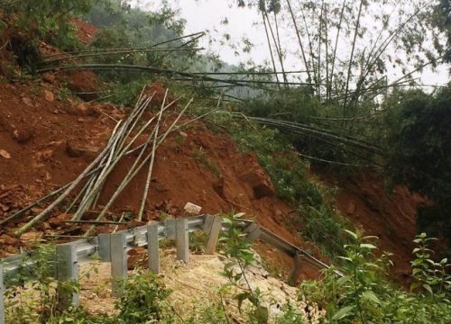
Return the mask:
<svg viewBox="0 0 451 324">
<path fill-rule="evenodd" d="M 224 125 L 238 147 L 252 152 L 270 176 L 277 196 L 299 211 L 285 218 L 290 229 L 322 247 L 333 257 L 343 251 L 343 229 L 349 225 L 332 200 L 334 191 L 308 175 L 308 164 L 301 160 L 278 130 L 256 127 L 247 121 L 230 119 L 226 113 L 214 117 Z"/>
</svg>

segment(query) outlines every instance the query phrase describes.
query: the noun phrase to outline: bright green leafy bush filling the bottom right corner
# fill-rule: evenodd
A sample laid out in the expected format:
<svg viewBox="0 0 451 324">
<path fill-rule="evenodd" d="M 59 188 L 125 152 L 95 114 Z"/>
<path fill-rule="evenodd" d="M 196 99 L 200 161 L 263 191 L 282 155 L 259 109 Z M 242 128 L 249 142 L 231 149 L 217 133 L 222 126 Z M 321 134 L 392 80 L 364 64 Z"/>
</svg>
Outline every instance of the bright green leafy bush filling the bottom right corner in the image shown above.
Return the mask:
<svg viewBox="0 0 451 324">
<path fill-rule="evenodd" d="M 375 237 L 349 232 L 352 243 L 345 246 L 344 266 L 325 272 L 319 281 L 300 285 L 299 299 L 320 323 L 448 323 L 451 320 L 451 276 L 446 259 L 430 259 L 426 234 L 415 242 L 410 293 L 388 282 L 388 255 L 373 257 Z M 337 277 L 339 271 L 342 276 Z M 324 313 L 315 312 L 323 310 Z M 315 314 L 314 314 L 315 313 Z"/>
</svg>

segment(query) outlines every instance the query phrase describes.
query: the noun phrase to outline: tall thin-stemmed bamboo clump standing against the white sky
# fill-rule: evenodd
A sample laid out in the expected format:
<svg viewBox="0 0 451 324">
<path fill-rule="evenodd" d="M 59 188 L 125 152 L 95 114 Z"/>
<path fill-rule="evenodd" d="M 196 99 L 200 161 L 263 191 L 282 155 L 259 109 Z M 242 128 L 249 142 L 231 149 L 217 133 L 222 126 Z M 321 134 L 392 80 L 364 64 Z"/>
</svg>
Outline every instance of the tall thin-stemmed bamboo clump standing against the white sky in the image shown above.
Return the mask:
<svg viewBox="0 0 451 324">
<path fill-rule="evenodd" d="M 341 106 L 336 117 L 362 114 L 364 100 L 384 94 L 387 87 L 415 83 L 416 73 L 437 67 L 444 52 L 441 33 L 433 23 L 436 3 L 430 0 L 237 4 L 261 13 L 274 69 L 283 72 L 289 56 L 298 58 L 313 93 Z M 298 49 L 293 51 L 296 42 Z M 397 79 L 393 71 L 400 75 Z"/>
</svg>

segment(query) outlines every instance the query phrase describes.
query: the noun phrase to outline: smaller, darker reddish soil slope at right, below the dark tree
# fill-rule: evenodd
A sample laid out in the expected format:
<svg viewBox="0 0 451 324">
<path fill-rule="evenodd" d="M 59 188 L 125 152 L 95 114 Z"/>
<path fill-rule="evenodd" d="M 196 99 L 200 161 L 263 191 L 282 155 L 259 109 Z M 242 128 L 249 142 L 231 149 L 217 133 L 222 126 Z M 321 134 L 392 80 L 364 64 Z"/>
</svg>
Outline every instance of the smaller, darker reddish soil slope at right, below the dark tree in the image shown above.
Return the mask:
<svg viewBox="0 0 451 324">
<path fill-rule="evenodd" d="M 339 180 L 323 175 L 323 180 L 340 188 L 336 195 L 338 209 L 356 227 L 364 229 L 366 235 L 379 238 L 380 253 L 393 254 L 393 274 L 408 284 L 417 233 L 416 212 L 419 205 L 426 203 L 425 199 L 402 186 L 395 187 L 389 195 L 383 179 L 377 175 L 361 174 Z"/>
</svg>

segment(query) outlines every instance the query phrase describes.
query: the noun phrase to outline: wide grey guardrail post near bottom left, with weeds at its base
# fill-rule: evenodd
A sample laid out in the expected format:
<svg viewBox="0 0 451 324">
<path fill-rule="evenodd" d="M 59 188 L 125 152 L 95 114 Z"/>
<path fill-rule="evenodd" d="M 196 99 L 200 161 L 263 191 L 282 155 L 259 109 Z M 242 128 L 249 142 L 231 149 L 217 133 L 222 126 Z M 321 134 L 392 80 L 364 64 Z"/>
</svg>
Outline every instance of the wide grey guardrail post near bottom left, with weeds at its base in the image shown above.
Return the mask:
<svg viewBox="0 0 451 324">
<path fill-rule="evenodd" d="M 58 303 L 60 308 L 67 309 L 70 305 L 78 306 L 79 293 L 68 292 L 63 284 L 71 280 L 78 282 L 77 246 L 74 243 L 65 243 L 57 246 L 57 279 Z"/>
</svg>

